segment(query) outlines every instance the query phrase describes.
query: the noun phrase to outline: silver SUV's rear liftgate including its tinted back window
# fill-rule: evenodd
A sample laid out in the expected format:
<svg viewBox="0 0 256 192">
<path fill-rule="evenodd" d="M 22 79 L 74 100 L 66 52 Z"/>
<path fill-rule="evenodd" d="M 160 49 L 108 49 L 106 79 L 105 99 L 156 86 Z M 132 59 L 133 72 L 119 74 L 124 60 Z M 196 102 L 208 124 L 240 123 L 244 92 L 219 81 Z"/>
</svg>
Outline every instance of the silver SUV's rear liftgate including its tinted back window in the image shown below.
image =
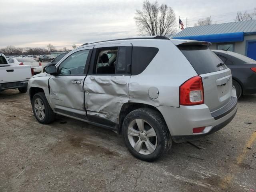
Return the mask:
<svg viewBox="0 0 256 192">
<path fill-rule="evenodd" d="M 196 73 L 202 77 L 204 103 L 210 112 L 224 107 L 232 95 L 232 75 L 204 42 L 180 44 L 177 46 L 190 62 Z"/>
</svg>

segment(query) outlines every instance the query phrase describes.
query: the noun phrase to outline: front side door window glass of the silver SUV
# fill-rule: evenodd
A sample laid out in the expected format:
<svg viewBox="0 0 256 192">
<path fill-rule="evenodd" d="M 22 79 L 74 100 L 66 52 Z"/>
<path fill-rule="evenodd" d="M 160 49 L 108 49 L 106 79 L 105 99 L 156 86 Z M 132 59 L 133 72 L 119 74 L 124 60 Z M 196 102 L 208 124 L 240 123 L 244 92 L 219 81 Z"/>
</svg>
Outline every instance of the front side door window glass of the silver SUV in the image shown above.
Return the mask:
<svg viewBox="0 0 256 192">
<path fill-rule="evenodd" d="M 86 60 L 90 50 L 82 50 L 68 56 L 59 66 L 59 75 L 81 75 L 84 74 Z"/>
</svg>

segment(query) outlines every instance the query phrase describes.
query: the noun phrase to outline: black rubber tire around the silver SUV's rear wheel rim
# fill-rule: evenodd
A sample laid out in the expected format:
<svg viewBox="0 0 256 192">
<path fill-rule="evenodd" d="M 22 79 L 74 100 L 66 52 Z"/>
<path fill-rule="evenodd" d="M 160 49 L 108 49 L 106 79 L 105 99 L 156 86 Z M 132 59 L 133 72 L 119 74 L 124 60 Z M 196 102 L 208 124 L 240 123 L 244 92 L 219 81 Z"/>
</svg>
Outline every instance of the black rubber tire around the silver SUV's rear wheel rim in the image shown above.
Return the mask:
<svg viewBox="0 0 256 192">
<path fill-rule="evenodd" d="M 128 126 L 132 121 L 136 119 L 142 119 L 148 122 L 155 130 L 157 136 L 157 144 L 154 152 L 152 152 L 151 154 L 141 154 L 137 152 L 129 141 Z M 124 137 L 126 147 L 130 151 L 130 153 L 136 158 L 148 162 L 152 162 L 154 160 L 157 160 L 158 158 L 163 157 L 168 152 L 172 145 L 170 132 L 166 126 L 164 118 L 161 116 L 159 112 L 150 108 L 139 108 L 130 112 L 124 118 L 124 122 L 122 124 L 122 134 Z"/>
</svg>

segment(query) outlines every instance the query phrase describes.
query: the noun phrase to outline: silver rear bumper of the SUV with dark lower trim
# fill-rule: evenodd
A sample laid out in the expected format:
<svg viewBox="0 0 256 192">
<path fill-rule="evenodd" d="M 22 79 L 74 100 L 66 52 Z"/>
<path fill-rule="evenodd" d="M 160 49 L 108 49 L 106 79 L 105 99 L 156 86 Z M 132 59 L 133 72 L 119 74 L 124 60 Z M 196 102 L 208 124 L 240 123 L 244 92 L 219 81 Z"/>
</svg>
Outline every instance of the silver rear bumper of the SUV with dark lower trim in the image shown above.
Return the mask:
<svg viewBox="0 0 256 192">
<path fill-rule="evenodd" d="M 226 126 L 236 115 L 236 104 L 237 99 L 231 98 L 230 102 L 215 114 L 210 112 L 206 104 L 157 108 L 164 116 L 174 142 L 185 142 L 212 134 Z M 205 127 L 204 131 L 194 134 L 193 128 L 198 127 Z"/>
</svg>

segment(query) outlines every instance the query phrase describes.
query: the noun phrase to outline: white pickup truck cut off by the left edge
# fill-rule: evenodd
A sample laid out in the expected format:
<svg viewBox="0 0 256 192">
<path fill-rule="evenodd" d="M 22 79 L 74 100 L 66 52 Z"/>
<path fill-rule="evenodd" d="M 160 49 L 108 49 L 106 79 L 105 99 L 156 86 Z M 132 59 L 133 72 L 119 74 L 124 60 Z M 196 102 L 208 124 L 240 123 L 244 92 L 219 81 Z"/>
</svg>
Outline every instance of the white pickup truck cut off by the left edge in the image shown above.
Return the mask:
<svg viewBox="0 0 256 192">
<path fill-rule="evenodd" d="M 12 66 L 0 53 L 0 92 L 6 89 L 16 89 L 21 93 L 26 93 L 28 80 L 34 73 L 31 66 Z"/>
</svg>

